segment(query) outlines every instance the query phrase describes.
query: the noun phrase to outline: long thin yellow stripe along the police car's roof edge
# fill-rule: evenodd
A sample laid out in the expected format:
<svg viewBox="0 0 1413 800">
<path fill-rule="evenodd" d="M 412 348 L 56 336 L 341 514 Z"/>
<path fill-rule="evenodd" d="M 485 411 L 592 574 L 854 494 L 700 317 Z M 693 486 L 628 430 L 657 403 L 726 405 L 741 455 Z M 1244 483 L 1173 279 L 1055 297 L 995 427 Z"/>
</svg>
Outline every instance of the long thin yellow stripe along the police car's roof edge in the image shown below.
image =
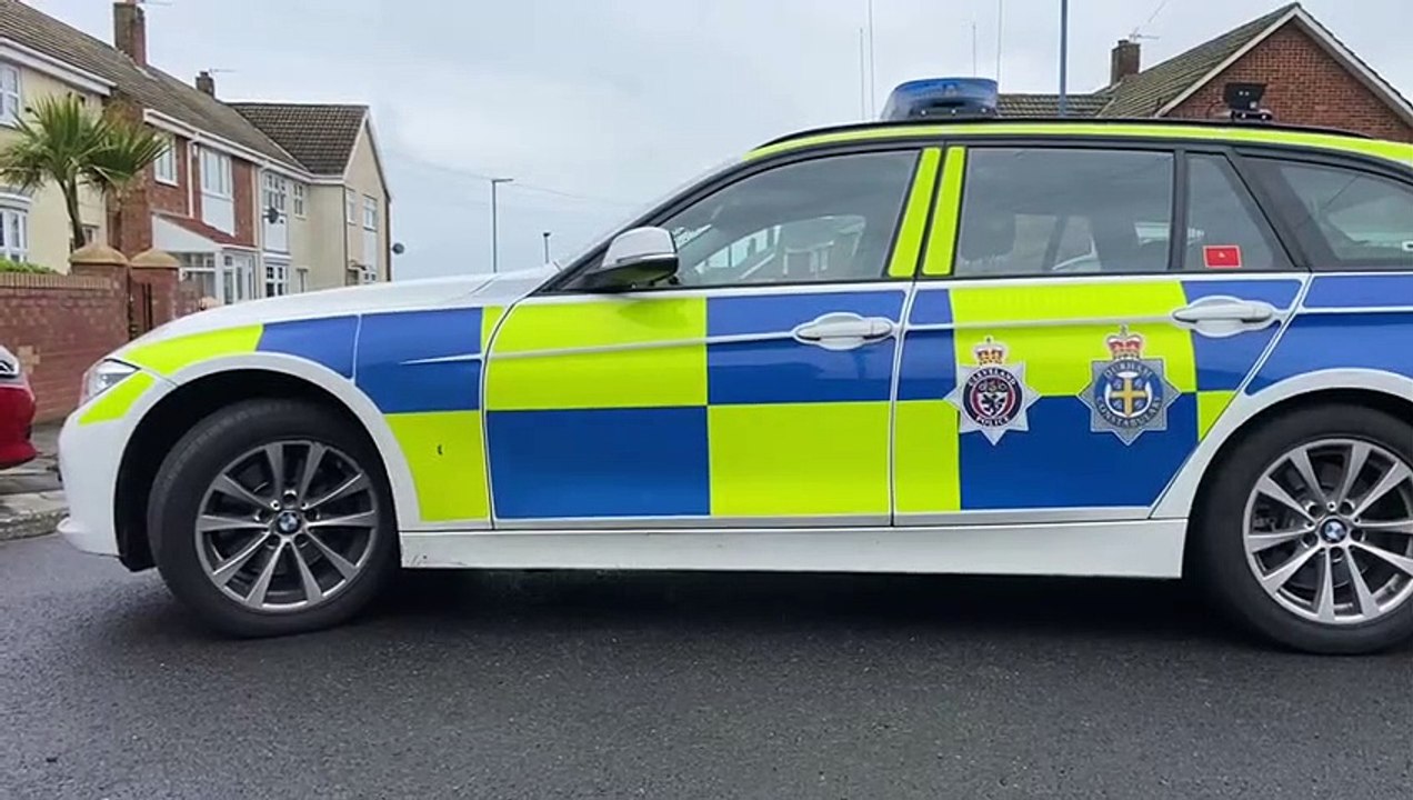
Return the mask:
<svg viewBox="0 0 1413 800">
<path fill-rule="evenodd" d="M 1413 165 L 1413 144 L 1355 139 L 1332 133 L 1306 133 L 1279 127 L 1241 126 L 1181 126 L 1181 124 L 1115 124 L 1115 123 L 952 123 L 952 124 L 889 124 L 839 130 L 817 136 L 801 136 L 788 141 L 757 147 L 746 154 L 746 160 L 764 158 L 807 147 L 825 144 L 848 144 L 862 141 L 887 141 L 890 139 L 918 137 L 1003 137 L 1003 136 L 1084 136 L 1084 137 L 1132 137 L 1132 139 L 1174 139 L 1187 141 L 1234 141 L 1253 144 L 1293 144 L 1340 150 L 1385 158 L 1403 165 Z"/>
</svg>

